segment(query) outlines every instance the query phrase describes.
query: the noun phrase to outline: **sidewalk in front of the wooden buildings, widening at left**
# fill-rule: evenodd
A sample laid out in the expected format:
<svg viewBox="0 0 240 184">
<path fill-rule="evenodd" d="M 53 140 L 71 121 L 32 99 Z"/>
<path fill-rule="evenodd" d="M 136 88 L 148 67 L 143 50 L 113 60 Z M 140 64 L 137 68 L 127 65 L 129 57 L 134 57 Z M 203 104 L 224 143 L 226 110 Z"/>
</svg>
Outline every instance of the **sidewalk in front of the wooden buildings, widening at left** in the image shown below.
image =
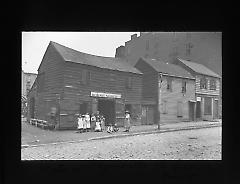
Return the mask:
<svg viewBox="0 0 240 184">
<path fill-rule="evenodd" d="M 109 134 L 107 132 L 86 132 L 76 133 L 76 131 L 49 131 L 34 127 L 26 122 L 22 122 L 22 148 L 29 146 L 43 146 L 46 144 L 73 143 L 98 139 L 107 139 L 113 137 L 133 136 L 140 134 L 163 133 L 169 131 L 178 131 L 195 128 L 206 128 L 212 126 L 221 126 L 222 121 L 215 122 L 179 122 L 161 124 L 160 130 L 157 125 L 132 126 L 130 132 L 123 132 L 120 128 L 118 132 Z"/>
</svg>

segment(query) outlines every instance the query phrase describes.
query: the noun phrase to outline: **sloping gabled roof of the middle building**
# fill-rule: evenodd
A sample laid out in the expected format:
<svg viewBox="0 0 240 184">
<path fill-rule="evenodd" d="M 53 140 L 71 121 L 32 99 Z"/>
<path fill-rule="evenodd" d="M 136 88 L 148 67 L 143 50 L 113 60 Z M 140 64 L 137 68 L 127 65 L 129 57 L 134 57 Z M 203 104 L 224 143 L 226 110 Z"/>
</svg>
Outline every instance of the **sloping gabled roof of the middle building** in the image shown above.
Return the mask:
<svg viewBox="0 0 240 184">
<path fill-rule="evenodd" d="M 181 78 L 189 78 L 194 79 L 194 77 L 186 70 L 181 68 L 180 66 L 174 65 L 174 64 L 167 64 L 163 61 L 156 60 L 156 59 L 149 59 L 149 58 L 141 58 L 146 63 L 148 63 L 154 70 L 156 70 L 159 73 L 175 76 L 175 77 L 181 77 Z"/>
</svg>

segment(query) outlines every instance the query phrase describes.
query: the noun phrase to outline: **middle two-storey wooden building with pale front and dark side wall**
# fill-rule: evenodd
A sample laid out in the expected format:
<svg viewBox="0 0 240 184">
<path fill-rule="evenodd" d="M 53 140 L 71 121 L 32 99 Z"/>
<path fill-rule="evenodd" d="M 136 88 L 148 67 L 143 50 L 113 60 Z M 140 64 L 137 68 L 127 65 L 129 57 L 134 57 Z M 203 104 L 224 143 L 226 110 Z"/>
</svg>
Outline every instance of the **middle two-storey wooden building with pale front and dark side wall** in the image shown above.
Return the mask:
<svg viewBox="0 0 240 184">
<path fill-rule="evenodd" d="M 142 98 L 146 103 L 142 104 L 142 114 L 146 119 L 158 123 L 159 105 L 161 123 L 194 119 L 191 102 L 195 100 L 195 79 L 189 72 L 148 58 L 140 58 L 135 67 L 143 73 Z"/>
</svg>

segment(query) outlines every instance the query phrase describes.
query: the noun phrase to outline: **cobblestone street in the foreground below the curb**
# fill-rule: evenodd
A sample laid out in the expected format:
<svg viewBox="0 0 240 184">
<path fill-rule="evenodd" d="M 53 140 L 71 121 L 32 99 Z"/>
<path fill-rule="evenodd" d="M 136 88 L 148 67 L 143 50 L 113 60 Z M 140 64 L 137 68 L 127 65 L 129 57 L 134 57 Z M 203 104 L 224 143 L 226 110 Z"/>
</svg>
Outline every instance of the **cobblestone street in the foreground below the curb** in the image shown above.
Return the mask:
<svg viewBox="0 0 240 184">
<path fill-rule="evenodd" d="M 221 160 L 222 128 L 137 135 L 21 149 L 22 160 Z"/>
</svg>

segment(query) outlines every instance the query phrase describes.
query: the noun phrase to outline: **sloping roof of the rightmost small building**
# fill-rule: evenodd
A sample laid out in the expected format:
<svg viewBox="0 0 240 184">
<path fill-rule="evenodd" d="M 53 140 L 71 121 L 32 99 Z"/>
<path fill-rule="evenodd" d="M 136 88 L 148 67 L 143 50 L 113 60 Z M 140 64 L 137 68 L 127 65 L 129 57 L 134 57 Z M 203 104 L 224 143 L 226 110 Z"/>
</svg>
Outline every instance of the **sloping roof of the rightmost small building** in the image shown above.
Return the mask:
<svg viewBox="0 0 240 184">
<path fill-rule="evenodd" d="M 210 70 L 209 68 L 207 68 L 206 66 L 204 66 L 202 64 L 186 61 L 186 60 L 183 60 L 180 58 L 177 58 L 177 59 L 180 62 L 182 62 L 183 64 L 185 64 L 186 66 L 188 66 L 189 68 L 191 68 L 196 73 L 221 78 L 218 74 L 216 74 L 215 72 L 213 72 L 212 70 Z"/>
</svg>

